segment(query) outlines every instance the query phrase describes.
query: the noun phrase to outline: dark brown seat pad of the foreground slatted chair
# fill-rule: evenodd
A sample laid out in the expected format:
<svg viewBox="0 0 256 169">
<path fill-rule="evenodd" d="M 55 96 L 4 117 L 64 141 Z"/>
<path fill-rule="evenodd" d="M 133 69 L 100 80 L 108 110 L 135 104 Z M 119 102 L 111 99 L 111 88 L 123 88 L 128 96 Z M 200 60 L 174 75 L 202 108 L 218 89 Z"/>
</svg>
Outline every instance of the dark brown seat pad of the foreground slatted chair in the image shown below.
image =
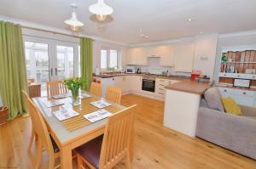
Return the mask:
<svg viewBox="0 0 256 169">
<path fill-rule="evenodd" d="M 92 166 L 99 168 L 99 161 L 102 149 L 103 135 L 90 140 L 90 142 L 83 144 L 75 150 L 81 155 L 86 161 L 90 162 Z"/>
</svg>

